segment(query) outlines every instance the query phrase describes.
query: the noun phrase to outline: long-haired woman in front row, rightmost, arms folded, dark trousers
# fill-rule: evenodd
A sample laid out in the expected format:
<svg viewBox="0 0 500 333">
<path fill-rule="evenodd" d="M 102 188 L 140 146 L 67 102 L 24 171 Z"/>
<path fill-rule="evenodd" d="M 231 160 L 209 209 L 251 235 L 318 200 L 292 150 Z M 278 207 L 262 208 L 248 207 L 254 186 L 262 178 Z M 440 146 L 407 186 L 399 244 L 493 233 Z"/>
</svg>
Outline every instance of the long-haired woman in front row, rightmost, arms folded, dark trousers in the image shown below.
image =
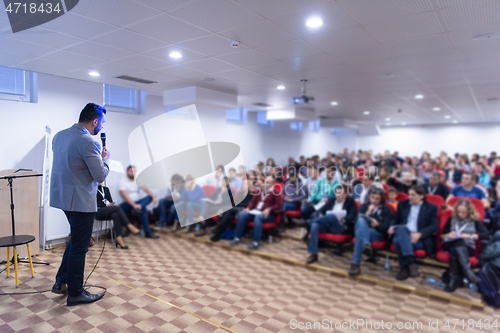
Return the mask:
<svg viewBox="0 0 500 333">
<path fill-rule="evenodd" d="M 476 251 L 476 241 L 488 240 L 489 234 L 469 200 L 457 201 L 452 217 L 443 228 L 441 238 L 443 249 L 450 253 L 450 281 L 444 290 L 455 291 L 461 276 L 467 278 L 470 283 L 479 283 L 481 280 L 471 270 L 469 258 Z"/>
</svg>

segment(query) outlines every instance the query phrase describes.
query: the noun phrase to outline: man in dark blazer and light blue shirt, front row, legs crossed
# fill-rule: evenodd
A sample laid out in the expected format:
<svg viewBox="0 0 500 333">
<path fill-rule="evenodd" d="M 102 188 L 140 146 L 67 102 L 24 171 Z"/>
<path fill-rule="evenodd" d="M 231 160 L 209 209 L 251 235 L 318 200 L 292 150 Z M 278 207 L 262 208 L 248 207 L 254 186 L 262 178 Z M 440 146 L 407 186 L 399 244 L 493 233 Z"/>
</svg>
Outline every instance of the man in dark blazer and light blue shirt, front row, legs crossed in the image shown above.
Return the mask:
<svg viewBox="0 0 500 333">
<path fill-rule="evenodd" d="M 413 251 L 425 250 L 427 255 L 433 254 L 438 229 L 437 207 L 425 201 L 424 189 L 415 185 L 408 196 L 409 200 L 399 202 L 388 231 L 389 235 L 394 234 L 393 244 L 398 254 L 397 280 L 420 275 Z"/>
</svg>

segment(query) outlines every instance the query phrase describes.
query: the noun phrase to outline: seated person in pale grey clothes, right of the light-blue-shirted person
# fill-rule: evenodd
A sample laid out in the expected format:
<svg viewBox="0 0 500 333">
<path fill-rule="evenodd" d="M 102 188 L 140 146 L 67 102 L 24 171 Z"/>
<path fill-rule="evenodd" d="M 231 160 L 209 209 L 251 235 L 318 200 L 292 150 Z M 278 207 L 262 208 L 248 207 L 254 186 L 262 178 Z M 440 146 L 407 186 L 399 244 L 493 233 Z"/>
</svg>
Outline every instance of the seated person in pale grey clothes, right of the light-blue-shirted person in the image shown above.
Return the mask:
<svg viewBox="0 0 500 333">
<path fill-rule="evenodd" d="M 204 222 L 206 219 L 213 217 L 221 207 L 231 207 L 233 194 L 229 185 L 229 179 L 223 178 L 223 184 L 209 198 L 201 199 L 200 216 L 194 219 L 198 221 L 196 232 L 194 233 L 196 237 L 206 234 L 206 223 Z"/>
</svg>

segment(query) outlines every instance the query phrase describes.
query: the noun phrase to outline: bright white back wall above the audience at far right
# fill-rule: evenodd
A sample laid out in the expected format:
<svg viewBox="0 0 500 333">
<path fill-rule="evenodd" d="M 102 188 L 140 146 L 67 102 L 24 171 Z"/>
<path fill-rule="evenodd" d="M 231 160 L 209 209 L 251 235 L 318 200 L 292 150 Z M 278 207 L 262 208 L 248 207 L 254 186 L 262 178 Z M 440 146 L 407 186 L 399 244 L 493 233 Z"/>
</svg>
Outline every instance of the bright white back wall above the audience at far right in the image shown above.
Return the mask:
<svg viewBox="0 0 500 333">
<path fill-rule="evenodd" d="M 385 149 L 398 151 L 400 156 L 418 156 L 424 151 L 437 156 L 444 150 L 449 156 L 455 153 L 489 155 L 499 150 L 500 125 L 445 125 L 420 127 L 385 127 L 380 136 L 358 137 L 359 149 Z"/>
</svg>

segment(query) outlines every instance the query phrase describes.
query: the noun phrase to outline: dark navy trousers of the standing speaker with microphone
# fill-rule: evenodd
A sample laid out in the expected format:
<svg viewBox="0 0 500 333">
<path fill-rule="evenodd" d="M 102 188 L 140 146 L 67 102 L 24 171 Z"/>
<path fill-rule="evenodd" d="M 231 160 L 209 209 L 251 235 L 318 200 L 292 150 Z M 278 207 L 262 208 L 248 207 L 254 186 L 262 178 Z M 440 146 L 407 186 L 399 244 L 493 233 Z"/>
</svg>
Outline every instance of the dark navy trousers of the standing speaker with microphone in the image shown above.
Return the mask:
<svg viewBox="0 0 500 333">
<path fill-rule="evenodd" d="M 77 297 L 83 292 L 85 256 L 89 250 L 95 213 L 67 212 L 71 238 L 66 245 L 56 281 L 68 285 L 68 296 Z"/>
</svg>

